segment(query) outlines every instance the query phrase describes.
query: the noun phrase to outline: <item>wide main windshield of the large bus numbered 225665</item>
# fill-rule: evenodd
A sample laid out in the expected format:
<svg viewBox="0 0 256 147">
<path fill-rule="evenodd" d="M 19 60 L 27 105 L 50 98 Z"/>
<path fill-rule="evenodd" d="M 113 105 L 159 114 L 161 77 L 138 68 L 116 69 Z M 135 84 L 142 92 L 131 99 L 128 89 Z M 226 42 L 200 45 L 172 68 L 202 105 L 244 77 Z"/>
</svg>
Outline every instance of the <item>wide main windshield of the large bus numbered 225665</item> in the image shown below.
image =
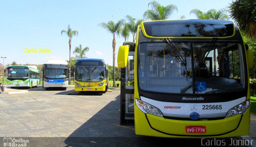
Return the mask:
<svg viewBox="0 0 256 147">
<path fill-rule="evenodd" d="M 138 45 L 138 53 L 141 90 L 210 94 L 245 88 L 239 43 L 143 42 Z"/>
</svg>

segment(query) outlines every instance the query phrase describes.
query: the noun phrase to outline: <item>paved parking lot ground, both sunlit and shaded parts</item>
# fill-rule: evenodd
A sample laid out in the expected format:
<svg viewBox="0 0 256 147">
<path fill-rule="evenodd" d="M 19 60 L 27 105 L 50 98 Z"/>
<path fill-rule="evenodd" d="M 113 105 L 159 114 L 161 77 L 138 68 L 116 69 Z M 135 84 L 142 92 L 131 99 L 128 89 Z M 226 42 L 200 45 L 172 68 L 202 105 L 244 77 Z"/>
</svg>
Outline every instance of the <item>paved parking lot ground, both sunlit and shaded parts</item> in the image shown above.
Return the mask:
<svg viewBox="0 0 256 147">
<path fill-rule="evenodd" d="M 26 93 L 0 94 L 0 147 L 8 142 L 6 137 L 28 139 L 27 147 L 205 145 L 206 142 L 201 139 L 135 135 L 134 126 L 119 125 L 120 90 L 112 91 L 81 94 L 74 92 L 74 88 L 45 91 L 38 87 Z M 252 131 L 256 132 L 255 129 Z M 228 146 L 230 139 L 224 139 L 224 142 Z"/>
</svg>

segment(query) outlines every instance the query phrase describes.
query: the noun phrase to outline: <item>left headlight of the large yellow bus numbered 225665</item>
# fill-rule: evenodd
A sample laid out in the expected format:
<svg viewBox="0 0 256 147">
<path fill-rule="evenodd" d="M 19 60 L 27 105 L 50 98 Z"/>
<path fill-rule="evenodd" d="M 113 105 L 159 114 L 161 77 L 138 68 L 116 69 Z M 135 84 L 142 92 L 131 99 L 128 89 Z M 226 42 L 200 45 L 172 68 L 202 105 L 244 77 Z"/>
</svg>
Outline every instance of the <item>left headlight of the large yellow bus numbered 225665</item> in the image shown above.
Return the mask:
<svg viewBox="0 0 256 147">
<path fill-rule="evenodd" d="M 163 114 L 162 114 L 162 112 L 158 109 L 158 108 L 156 108 L 156 107 L 154 107 L 154 106 L 152 106 L 152 105 L 150 105 L 150 104 L 148 104 L 148 103 L 146 103 L 146 102 L 143 102 L 143 101 L 141 101 L 141 100 L 138 100 L 137 98 L 135 98 L 135 103 L 136 103 L 136 106 L 142 111 L 142 112 L 144 112 L 144 113 L 148 113 L 148 114 L 153 114 L 153 115 L 155 115 L 155 116 L 161 116 L 161 117 L 163 117 Z"/>
</svg>

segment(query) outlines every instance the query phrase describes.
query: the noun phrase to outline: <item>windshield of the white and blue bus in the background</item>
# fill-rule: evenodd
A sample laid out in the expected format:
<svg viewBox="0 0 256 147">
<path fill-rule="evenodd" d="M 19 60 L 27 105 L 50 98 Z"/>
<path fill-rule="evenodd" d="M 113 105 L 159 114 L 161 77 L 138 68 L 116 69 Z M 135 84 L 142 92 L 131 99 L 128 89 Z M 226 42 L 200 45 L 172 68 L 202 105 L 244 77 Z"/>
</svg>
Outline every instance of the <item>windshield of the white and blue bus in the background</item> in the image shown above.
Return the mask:
<svg viewBox="0 0 256 147">
<path fill-rule="evenodd" d="M 65 78 L 68 76 L 68 69 L 45 68 L 44 76 L 47 78 Z"/>
</svg>

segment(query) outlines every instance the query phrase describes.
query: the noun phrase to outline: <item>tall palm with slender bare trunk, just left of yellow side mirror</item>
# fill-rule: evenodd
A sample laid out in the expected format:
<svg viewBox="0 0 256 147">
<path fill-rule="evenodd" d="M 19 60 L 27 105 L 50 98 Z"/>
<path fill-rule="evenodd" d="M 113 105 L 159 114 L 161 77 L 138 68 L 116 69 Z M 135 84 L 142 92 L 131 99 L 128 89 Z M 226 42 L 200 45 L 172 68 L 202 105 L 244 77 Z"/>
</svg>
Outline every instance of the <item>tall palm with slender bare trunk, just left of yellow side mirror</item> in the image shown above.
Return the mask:
<svg viewBox="0 0 256 147">
<path fill-rule="evenodd" d="M 106 29 L 113 35 L 112 48 L 113 48 L 113 87 L 116 87 L 116 34 L 119 35 L 122 30 L 124 20 L 119 20 L 117 23 L 109 21 L 108 23 L 102 22 L 99 25 Z"/>
</svg>

